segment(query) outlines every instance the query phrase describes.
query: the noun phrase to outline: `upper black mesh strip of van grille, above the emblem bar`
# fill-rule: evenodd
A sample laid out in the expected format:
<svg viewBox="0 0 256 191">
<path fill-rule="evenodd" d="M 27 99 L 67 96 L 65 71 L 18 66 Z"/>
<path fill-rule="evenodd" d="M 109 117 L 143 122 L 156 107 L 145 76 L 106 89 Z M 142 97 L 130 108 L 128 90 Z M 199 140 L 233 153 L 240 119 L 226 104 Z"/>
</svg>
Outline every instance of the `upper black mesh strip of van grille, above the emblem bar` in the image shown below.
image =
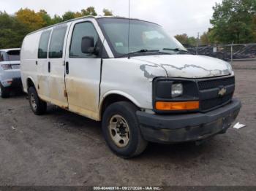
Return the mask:
<svg viewBox="0 0 256 191">
<path fill-rule="evenodd" d="M 198 87 L 199 90 L 208 90 L 212 88 L 216 88 L 219 86 L 227 86 L 227 85 L 234 85 L 235 84 L 235 77 L 228 77 L 224 79 L 210 79 L 206 81 L 199 81 Z"/>
</svg>

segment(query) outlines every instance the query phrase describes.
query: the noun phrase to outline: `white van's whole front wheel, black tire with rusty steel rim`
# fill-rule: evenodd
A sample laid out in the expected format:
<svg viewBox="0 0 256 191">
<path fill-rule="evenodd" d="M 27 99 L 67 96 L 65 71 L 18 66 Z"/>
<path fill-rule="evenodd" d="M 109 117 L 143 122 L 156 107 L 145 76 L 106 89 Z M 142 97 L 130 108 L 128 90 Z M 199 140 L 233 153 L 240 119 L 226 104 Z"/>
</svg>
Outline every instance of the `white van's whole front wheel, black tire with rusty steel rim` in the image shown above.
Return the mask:
<svg viewBox="0 0 256 191">
<path fill-rule="evenodd" d="M 140 133 L 137 107 L 127 101 L 108 106 L 103 114 L 102 132 L 108 147 L 119 157 L 140 155 L 148 142 Z"/>
</svg>

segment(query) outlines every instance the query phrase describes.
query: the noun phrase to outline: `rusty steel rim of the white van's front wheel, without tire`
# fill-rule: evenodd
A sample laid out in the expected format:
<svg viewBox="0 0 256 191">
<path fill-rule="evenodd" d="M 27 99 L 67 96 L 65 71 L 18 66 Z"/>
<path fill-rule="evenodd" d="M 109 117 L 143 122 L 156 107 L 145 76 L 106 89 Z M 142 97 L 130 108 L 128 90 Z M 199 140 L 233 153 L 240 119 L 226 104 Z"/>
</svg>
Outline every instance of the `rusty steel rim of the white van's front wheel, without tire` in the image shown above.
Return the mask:
<svg viewBox="0 0 256 191">
<path fill-rule="evenodd" d="M 129 144 L 129 125 L 124 117 L 121 115 L 114 115 L 111 117 L 108 130 L 110 138 L 117 147 L 126 147 Z"/>
</svg>

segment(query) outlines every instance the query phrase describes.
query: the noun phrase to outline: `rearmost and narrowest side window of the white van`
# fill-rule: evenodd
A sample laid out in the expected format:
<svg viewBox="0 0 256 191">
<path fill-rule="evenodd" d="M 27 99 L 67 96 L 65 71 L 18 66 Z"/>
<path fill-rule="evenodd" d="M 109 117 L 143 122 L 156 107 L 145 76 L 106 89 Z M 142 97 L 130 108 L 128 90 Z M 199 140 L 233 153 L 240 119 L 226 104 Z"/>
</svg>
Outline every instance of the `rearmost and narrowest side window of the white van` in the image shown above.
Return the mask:
<svg viewBox="0 0 256 191">
<path fill-rule="evenodd" d="M 45 31 L 40 36 L 38 58 L 47 58 L 50 31 Z"/>
</svg>

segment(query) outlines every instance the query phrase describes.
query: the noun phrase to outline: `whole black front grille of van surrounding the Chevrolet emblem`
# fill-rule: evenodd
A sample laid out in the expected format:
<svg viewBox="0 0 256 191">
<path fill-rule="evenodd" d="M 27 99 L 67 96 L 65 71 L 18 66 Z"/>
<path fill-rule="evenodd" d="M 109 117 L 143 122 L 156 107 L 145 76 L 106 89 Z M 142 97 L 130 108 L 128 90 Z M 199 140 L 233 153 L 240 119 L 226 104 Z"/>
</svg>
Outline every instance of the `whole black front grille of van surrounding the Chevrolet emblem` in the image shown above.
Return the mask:
<svg viewBox="0 0 256 191">
<path fill-rule="evenodd" d="M 218 106 L 229 103 L 235 91 L 235 77 L 199 81 L 197 84 L 200 92 L 200 110 L 202 112 L 208 112 L 211 109 L 216 109 Z M 228 87 L 229 91 L 226 95 L 220 96 L 216 88 L 221 90 L 222 87 Z M 206 94 L 211 94 L 211 98 L 207 98 Z"/>
</svg>

